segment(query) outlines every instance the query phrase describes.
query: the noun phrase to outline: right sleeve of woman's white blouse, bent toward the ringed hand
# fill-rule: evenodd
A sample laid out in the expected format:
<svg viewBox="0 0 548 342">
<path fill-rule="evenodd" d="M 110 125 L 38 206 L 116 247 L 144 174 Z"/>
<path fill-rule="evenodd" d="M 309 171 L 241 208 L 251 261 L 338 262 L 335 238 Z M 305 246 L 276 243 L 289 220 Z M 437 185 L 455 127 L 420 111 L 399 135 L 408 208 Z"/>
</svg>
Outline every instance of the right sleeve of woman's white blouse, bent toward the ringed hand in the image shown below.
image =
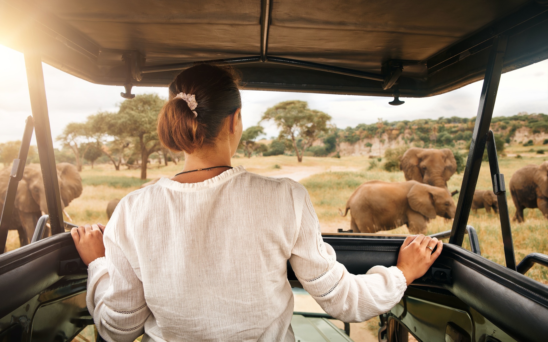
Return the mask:
<svg viewBox="0 0 548 342">
<path fill-rule="evenodd" d="M 289 262 L 304 289 L 327 314 L 343 322 L 363 322 L 389 311 L 407 288 L 402 271 L 374 266 L 364 275 L 349 273 L 336 261 L 333 247 L 323 242 L 308 193 L 299 191 L 304 195 L 294 191 L 298 233 Z"/>
</svg>

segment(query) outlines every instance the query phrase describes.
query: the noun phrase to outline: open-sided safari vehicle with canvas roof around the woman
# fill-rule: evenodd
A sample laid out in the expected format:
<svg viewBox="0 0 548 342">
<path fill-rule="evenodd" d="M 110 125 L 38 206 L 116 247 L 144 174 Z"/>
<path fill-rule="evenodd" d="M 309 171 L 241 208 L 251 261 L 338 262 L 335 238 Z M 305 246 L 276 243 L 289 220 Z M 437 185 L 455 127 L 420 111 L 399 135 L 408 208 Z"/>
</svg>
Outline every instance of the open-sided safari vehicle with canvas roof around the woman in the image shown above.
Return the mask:
<svg viewBox="0 0 548 342">
<path fill-rule="evenodd" d="M 533 263 L 548 266 L 548 256 L 533 253 L 516 266 L 489 134 L 501 73 L 548 58 L 546 0 L 0 0 L 0 44 L 24 53 L 32 106 L 5 194 L 0 251 L 32 125 L 53 233 L 41 239 L 41 225 L 30 245 L 0 256 L 1 341 L 68 341 L 93 324 L 87 273 L 62 221 L 42 61 L 89 82 L 123 85 L 124 98 L 134 96 L 133 86 L 167 86 L 181 69 L 208 62 L 238 68 L 244 89 L 393 96 L 392 105 L 403 103 L 399 96 L 434 96 L 483 79 L 453 227 L 441 234 L 449 244 L 380 317 L 379 341 L 406 341 L 409 333 L 419 341 L 548 339 L 548 286 L 524 275 Z M 467 227 L 486 146 L 506 266 L 482 257 Z M 467 231 L 472 251 L 461 247 Z M 344 232 L 324 240 L 354 274 L 395 265 L 403 241 Z M 300 286 L 289 264 L 288 280 Z"/>
</svg>

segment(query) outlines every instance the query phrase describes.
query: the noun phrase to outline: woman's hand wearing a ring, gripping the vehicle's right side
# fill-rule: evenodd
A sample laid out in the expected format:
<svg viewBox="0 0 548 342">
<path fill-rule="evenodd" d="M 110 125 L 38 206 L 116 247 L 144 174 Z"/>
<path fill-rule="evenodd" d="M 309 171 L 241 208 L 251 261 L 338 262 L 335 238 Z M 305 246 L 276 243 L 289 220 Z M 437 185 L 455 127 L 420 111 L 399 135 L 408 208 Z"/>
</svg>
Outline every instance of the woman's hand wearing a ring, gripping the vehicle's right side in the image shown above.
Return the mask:
<svg viewBox="0 0 548 342">
<path fill-rule="evenodd" d="M 433 248 L 438 246 L 435 252 Z M 432 250 L 426 246 L 430 246 Z M 443 242 L 436 237 L 424 236 L 423 234 L 408 236 L 403 245 L 399 248 L 397 268 L 406 277 L 409 286 L 413 280 L 423 276 L 426 271 L 439 257 L 442 252 Z"/>
</svg>

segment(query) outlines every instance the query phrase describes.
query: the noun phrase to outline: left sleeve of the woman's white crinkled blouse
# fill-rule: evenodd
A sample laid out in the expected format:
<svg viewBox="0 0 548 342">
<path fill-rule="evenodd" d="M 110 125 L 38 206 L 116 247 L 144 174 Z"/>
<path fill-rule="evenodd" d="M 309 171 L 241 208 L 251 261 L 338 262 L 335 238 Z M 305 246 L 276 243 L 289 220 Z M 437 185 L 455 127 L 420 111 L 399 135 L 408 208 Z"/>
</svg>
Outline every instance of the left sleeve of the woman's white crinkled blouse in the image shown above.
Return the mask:
<svg viewBox="0 0 548 342">
<path fill-rule="evenodd" d="M 103 236 L 105 257 L 89 264 L 86 295 L 89 313 L 101 337 L 119 342 L 134 341 L 142 335 L 151 315 L 142 283 L 120 246 L 117 231 L 122 228 L 119 225 L 123 224 L 123 216 L 123 208 L 117 208 L 107 224 Z"/>
</svg>

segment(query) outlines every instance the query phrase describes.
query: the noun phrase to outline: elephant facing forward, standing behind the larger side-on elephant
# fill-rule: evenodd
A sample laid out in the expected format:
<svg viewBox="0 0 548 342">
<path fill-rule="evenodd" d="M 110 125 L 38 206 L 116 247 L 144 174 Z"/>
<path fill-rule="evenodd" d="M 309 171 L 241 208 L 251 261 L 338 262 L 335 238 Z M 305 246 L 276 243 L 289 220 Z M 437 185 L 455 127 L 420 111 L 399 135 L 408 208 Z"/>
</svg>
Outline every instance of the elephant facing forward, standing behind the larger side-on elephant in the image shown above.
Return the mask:
<svg viewBox="0 0 548 342">
<path fill-rule="evenodd" d="M 456 160 L 448 148 L 409 148 L 401 157 L 399 169 L 406 181 L 417 181 L 447 188 L 447 181 L 456 171 Z"/>
</svg>

